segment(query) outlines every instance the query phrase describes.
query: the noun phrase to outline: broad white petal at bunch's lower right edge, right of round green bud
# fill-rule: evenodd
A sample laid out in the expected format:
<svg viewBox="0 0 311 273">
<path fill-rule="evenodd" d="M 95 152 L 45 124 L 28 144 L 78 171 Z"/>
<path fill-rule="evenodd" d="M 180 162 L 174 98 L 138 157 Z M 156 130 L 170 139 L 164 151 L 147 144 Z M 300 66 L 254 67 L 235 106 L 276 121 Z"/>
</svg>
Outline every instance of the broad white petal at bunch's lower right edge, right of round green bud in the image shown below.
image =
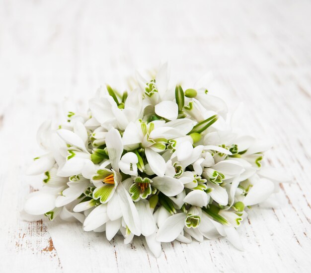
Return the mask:
<svg viewBox="0 0 311 273">
<path fill-rule="evenodd" d="M 256 205 L 265 201 L 274 191 L 274 184 L 266 178 L 259 179 L 249 190 L 243 203 L 244 205 Z"/>
</svg>

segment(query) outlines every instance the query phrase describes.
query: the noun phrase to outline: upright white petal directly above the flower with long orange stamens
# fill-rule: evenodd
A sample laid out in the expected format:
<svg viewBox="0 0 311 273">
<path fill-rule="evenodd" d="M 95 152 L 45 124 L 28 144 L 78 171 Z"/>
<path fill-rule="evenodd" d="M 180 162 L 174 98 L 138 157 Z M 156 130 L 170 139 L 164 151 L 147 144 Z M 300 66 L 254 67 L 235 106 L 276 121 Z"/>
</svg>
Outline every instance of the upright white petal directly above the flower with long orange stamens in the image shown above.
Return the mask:
<svg viewBox="0 0 311 273">
<path fill-rule="evenodd" d="M 119 161 L 123 152 L 123 143 L 118 130 L 111 129 L 107 133 L 106 146 L 112 168 L 115 171 L 119 171 Z"/>
</svg>

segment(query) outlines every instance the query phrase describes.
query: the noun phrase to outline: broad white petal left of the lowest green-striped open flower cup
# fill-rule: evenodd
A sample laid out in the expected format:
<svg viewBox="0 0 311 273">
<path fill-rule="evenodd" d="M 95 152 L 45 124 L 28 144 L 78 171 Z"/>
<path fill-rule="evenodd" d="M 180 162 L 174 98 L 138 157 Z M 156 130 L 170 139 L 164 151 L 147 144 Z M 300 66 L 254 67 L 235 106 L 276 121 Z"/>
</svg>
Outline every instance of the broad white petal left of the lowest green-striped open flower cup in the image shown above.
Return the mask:
<svg viewBox="0 0 311 273">
<path fill-rule="evenodd" d="M 159 242 L 174 241 L 185 226 L 185 213 L 177 213 L 169 216 L 159 227 L 156 240 Z"/>
</svg>

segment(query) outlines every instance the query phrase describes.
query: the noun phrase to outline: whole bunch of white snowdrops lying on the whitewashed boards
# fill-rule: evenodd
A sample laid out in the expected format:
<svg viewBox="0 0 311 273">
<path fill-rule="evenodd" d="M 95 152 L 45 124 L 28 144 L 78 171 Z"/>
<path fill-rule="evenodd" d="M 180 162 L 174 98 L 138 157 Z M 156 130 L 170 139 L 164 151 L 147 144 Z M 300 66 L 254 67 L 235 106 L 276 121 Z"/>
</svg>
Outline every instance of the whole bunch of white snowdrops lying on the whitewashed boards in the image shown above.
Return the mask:
<svg viewBox="0 0 311 273">
<path fill-rule="evenodd" d="M 203 82 L 173 90 L 164 64 L 154 78 L 137 74 L 129 92 L 100 88 L 85 114 L 67 111 L 58 128 L 43 123 L 44 153 L 28 169 L 44 174 L 43 187 L 23 217 L 75 220 L 125 244 L 143 235 L 156 257 L 173 240 L 224 236 L 243 249 L 236 229 L 249 206 L 271 204 L 291 179 L 267 165 L 270 144 L 236 130 L 237 116 L 227 119 Z"/>
</svg>

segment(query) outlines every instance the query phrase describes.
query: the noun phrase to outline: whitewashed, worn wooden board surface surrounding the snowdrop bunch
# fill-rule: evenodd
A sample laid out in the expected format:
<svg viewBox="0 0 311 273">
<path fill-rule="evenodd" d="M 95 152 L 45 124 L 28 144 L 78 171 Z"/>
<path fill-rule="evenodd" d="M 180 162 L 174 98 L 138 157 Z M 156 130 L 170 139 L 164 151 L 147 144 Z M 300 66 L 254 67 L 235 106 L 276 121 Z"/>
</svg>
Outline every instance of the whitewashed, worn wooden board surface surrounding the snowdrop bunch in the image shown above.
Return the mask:
<svg viewBox="0 0 311 273">
<path fill-rule="evenodd" d="M 267 160 L 293 177 L 279 208 L 249 212 L 245 251 L 173 242 L 155 259 L 140 238 L 22 221 L 40 187 L 24 175 L 40 123 L 65 119 L 65 97 L 85 111 L 100 84 L 123 88 L 161 60 L 189 86 L 212 70 L 210 91 L 231 109 L 244 101 L 245 131 L 273 140 Z M 0 0 L 0 150 L 0 272 L 310 272 L 311 2 Z"/>
</svg>

